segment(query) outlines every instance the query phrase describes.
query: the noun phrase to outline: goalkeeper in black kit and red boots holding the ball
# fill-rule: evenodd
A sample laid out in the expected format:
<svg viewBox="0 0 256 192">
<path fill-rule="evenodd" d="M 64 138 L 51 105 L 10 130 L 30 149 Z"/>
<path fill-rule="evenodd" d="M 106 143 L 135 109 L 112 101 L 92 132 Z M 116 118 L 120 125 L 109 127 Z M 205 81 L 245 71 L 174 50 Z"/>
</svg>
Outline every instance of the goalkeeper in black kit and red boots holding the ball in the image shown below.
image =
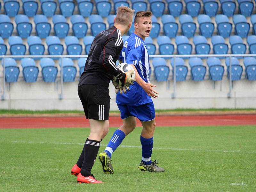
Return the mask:
<svg viewBox="0 0 256 192">
<path fill-rule="evenodd" d="M 108 133 L 110 97 L 108 85 L 116 76 L 122 85 L 113 84 L 120 92 L 129 91 L 135 79 L 132 70 L 123 73 L 116 67 L 116 60 L 123 48 L 124 35 L 132 25 L 134 11 L 129 7 L 118 7 L 114 26 L 100 32 L 93 40 L 84 72 L 78 84 L 78 95 L 86 118 L 90 122 L 90 134 L 86 139 L 77 163 L 71 174 L 77 176 L 78 183 L 103 183 L 96 180 L 91 169 L 100 148 L 100 141 Z"/>
</svg>

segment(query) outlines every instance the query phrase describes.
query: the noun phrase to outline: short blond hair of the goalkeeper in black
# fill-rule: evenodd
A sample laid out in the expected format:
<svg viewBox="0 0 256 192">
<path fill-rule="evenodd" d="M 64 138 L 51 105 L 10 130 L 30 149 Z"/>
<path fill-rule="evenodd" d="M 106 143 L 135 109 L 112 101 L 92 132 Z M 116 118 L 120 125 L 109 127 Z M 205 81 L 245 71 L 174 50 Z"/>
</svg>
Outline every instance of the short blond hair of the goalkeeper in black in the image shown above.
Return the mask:
<svg viewBox="0 0 256 192">
<path fill-rule="evenodd" d="M 132 21 L 134 10 L 127 6 L 118 7 L 116 12 L 116 23 L 121 25 L 129 25 Z"/>
</svg>

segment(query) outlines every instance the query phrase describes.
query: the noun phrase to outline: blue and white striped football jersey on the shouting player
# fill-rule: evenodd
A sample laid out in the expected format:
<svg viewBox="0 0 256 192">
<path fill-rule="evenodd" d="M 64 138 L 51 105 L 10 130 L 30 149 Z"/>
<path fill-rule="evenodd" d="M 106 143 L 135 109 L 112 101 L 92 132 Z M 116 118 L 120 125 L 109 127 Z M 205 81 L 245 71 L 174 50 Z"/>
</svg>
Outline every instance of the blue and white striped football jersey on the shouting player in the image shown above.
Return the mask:
<svg viewBox="0 0 256 192">
<path fill-rule="evenodd" d="M 149 56 L 145 42 L 136 34 L 132 35 L 124 42 L 123 49 L 120 53 L 119 60 L 123 63 L 133 64 L 137 69 L 140 77 L 149 83 Z M 116 94 L 116 103 L 122 105 L 138 106 L 152 102 L 151 97 L 134 82 L 130 85 L 130 91 L 126 94 Z"/>
</svg>

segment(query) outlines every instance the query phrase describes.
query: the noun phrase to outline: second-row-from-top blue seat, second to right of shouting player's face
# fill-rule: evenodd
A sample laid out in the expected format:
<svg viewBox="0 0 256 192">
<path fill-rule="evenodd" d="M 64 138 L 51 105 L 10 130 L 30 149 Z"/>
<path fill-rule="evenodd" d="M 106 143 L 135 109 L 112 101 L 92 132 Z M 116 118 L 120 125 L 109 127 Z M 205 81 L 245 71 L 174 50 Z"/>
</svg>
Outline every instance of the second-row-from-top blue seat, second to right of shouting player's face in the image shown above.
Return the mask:
<svg viewBox="0 0 256 192">
<path fill-rule="evenodd" d="M 164 29 L 164 35 L 168 37 L 175 37 L 178 32 L 178 23 L 172 15 L 163 15 L 161 17 Z"/>
</svg>

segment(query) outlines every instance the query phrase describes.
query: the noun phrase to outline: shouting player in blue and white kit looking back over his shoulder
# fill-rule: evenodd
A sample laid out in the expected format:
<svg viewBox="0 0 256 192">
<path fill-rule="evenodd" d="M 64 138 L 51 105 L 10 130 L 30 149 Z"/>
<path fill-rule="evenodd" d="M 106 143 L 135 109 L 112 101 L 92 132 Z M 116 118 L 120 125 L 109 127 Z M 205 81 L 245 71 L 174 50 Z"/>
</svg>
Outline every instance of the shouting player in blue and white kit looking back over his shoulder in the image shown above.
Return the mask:
<svg viewBox="0 0 256 192">
<path fill-rule="evenodd" d="M 111 155 L 124 140 L 124 137 L 136 127 L 136 117 L 140 120 L 143 129 L 140 135 L 142 158 L 139 165 L 141 171 L 164 172 L 158 167 L 157 160 L 151 161 L 153 149 L 153 135 L 156 127 L 155 108 L 151 99 L 157 98 L 157 92 L 152 88 L 156 87 L 149 82 L 149 56 L 144 42 L 149 36 L 152 28 L 152 12 L 137 12 L 134 18 L 134 33 L 124 42 L 120 57 L 121 63 L 130 64 L 135 70 L 133 85 L 125 95 L 118 93 L 116 103 L 121 112 L 123 125 L 113 134 L 106 149 L 99 154 L 103 172 L 114 173 L 111 164 Z"/>
</svg>

